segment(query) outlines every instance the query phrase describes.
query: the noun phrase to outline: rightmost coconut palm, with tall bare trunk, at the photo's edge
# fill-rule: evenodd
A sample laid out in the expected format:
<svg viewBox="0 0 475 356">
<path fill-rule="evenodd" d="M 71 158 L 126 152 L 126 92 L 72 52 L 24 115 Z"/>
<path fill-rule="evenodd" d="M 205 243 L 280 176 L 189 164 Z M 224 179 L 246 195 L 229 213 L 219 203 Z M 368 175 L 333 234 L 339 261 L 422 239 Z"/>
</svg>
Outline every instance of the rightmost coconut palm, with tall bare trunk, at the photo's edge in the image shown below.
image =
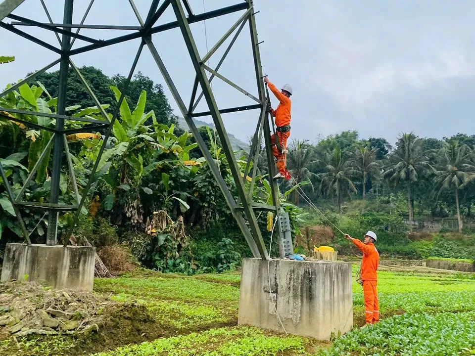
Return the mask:
<svg viewBox="0 0 475 356">
<path fill-rule="evenodd" d="M 464 189 L 475 173 L 475 165 L 471 160 L 473 152 L 467 145 L 459 142 L 444 142 L 438 152 L 438 166 L 435 172 L 435 182 L 442 190 L 452 190 L 455 193 L 457 205 L 457 220 L 459 232 L 462 232 L 463 223 L 460 216 L 459 191 Z"/>
</svg>

